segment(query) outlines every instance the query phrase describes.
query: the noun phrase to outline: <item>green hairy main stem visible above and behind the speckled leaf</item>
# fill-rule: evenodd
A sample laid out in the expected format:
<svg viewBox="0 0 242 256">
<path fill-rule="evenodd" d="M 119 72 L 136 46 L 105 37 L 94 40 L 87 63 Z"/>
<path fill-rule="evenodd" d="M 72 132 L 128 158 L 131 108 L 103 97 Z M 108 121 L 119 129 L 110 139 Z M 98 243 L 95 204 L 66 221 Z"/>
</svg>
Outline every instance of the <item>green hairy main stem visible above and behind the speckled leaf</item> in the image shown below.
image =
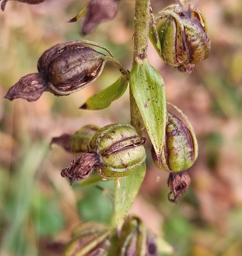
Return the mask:
<svg viewBox="0 0 242 256">
<path fill-rule="evenodd" d="M 142 60 L 146 60 L 147 42 L 149 31 L 149 0 L 136 0 L 134 13 L 134 52 L 133 52 L 133 66 Z M 130 117 L 131 125 L 136 129 L 141 136 L 144 127 L 143 119 L 140 115 L 140 110 L 135 102 L 131 88 L 130 94 Z"/>
</svg>

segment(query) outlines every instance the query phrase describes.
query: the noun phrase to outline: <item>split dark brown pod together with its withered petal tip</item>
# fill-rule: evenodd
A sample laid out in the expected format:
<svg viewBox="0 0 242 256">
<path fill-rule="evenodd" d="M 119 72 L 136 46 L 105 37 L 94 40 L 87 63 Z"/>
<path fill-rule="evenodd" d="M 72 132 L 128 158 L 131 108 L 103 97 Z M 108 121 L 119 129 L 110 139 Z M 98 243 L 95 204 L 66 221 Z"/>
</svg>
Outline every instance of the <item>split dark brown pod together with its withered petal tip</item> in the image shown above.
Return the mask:
<svg viewBox="0 0 242 256">
<path fill-rule="evenodd" d="M 50 91 L 56 96 L 69 95 L 93 83 L 102 73 L 106 55 L 71 41 L 45 51 L 38 61 L 39 73 L 20 78 L 5 98 L 38 100 Z"/>
</svg>

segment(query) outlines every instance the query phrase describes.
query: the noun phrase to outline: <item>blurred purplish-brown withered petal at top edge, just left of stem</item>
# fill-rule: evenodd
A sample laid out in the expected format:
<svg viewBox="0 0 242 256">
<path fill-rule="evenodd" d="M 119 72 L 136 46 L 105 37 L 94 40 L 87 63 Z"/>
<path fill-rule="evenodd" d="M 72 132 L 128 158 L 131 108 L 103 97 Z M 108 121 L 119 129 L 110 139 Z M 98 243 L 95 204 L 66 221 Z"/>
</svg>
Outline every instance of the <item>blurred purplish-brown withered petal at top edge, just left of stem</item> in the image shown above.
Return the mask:
<svg viewBox="0 0 242 256">
<path fill-rule="evenodd" d="M 83 35 L 92 33 L 99 24 L 113 20 L 117 14 L 119 1 L 90 0 L 87 5 L 87 13 L 82 20 Z"/>
</svg>

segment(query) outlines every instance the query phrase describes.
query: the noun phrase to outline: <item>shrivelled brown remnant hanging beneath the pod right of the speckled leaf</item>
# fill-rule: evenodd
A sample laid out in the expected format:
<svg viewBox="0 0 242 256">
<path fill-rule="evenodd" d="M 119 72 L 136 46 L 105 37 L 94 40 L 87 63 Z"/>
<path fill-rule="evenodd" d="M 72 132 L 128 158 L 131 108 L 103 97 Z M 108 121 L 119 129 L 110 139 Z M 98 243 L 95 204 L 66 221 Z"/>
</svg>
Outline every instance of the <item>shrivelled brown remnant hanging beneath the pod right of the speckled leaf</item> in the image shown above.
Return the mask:
<svg viewBox="0 0 242 256">
<path fill-rule="evenodd" d="M 167 182 L 171 190 L 168 194 L 168 200 L 171 203 L 176 203 L 189 187 L 190 181 L 191 179 L 186 171 L 171 172 Z M 171 193 L 174 194 L 174 199 L 170 198 Z"/>
</svg>

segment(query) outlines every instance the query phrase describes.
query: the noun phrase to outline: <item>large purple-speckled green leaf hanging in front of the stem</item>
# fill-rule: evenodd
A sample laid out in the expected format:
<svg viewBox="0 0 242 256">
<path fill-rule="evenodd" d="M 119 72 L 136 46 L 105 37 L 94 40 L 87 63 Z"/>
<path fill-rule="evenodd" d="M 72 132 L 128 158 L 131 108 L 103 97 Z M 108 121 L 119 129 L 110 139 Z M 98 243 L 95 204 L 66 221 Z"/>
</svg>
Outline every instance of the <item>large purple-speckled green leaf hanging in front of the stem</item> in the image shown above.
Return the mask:
<svg viewBox="0 0 242 256">
<path fill-rule="evenodd" d="M 144 59 L 133 66 L 130 73 L 130 86 L 160 163 L 166 124 L 163 78 Z"/>
</svg>

